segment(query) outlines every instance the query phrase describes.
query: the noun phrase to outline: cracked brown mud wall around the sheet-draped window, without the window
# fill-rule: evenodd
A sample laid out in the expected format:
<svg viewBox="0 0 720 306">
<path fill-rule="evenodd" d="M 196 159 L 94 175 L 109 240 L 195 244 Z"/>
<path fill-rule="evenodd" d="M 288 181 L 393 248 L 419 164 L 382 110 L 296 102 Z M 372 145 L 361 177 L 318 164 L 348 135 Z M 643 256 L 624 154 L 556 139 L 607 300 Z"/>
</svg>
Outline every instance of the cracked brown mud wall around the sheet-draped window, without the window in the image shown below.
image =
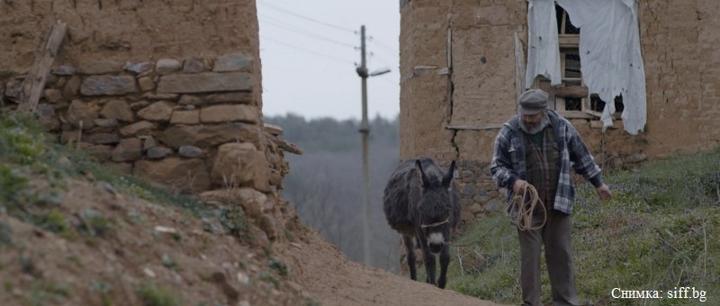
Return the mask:
<svg viewBox="0 0 720 306">
<path fill-rule="evenodd" d="M 464 217 L 496 210 L 503 199 L 490 179 L 491 150 L 498 125 L 516 112 L 514 39 L 527 54 L 527 1 L 401 4 L 401 158 L 459 160 Z M 644 132 L 628 135 L 616 121 L 602 133 L 599 121 L 571 120 L 606 171 L 720 140 L 720 3 L 650 0 L 639 11 Z"/>
</svg>

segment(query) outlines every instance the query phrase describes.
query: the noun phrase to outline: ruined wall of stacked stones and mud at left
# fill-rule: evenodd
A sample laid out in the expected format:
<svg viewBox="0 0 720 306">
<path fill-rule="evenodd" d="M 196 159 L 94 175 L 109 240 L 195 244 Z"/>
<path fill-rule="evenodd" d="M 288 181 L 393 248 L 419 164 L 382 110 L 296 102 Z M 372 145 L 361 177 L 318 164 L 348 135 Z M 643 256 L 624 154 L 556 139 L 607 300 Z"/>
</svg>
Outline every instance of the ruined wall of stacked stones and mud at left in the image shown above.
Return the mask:
<svg viewBox="0 0 720 306">
<path fill-rule="evenodd" d="M 36 111 L 58 140 L 206 202 L 239 202 L 282 238 L 284 150 L 295 148 L 263 122 L 255 5 L 4 1 L 0 102 L 18 107 L 50 27 L 67 23 Z"/>
</svg>

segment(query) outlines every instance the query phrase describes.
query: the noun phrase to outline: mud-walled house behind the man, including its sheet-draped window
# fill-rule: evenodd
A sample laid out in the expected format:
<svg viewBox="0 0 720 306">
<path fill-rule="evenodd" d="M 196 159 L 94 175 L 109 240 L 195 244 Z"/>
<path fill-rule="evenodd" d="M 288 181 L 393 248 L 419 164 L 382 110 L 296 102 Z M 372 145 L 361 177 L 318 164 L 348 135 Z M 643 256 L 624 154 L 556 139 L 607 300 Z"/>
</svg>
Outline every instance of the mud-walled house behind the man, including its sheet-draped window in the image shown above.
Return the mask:
<svg viewBox="0 0 720 306">
<path fill-rule="evenodd" d="M 491 151 L 525 88 L 551 95 L 606 172 L 720 140 L 720 2 L 401 0 L 400 12 L 401 159 L 458 160 L 464 219 L 504 207 Z"/>
</svg>

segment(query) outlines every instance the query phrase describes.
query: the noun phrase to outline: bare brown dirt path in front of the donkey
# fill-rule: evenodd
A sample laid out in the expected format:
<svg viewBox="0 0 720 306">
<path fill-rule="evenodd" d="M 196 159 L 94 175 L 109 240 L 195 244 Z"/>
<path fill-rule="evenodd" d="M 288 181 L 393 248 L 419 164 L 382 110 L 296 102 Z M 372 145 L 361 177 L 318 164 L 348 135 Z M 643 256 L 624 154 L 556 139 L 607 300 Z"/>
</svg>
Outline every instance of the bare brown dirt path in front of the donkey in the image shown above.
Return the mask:
<svg viewBox="0 0 720 306">
<path fill-rule="evenodd" d="M 293 275 L 321 305 L 496 305 L 414 282 L 345 257 L 317 234 L 284 250 L 293 258 Z"/>
</svg>

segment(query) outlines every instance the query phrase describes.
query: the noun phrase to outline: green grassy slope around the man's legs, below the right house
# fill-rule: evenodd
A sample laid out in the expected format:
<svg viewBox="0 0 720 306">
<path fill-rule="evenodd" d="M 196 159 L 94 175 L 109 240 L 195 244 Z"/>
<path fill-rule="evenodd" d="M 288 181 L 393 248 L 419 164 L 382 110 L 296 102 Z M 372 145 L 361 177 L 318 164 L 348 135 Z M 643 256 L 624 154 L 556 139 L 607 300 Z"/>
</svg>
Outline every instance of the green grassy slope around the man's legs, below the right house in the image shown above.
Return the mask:
<svg viewBox="0 0 720 306">
<path fill-rule="evenodd" d="M 720 148 L 606 175 L 614 198 L 599 202 L 581 183 L 573 214 L 576 285 L 587 304 L 687 304 L 667 299 L 695 287 L 720 296 Z M 482 238 L 480 236 L 485 235 Z M 482 299 L 521 302 L 517 229 L 503 214 L 474 224 L 455 240 L 448 288 Z M 477 241 L 477 242 L 476 242 Z M 543 262 L 542 300 L 552 302 Z M 616 300 L 610 292 L 659 290 L 662 300 Z"/>
</svg>

